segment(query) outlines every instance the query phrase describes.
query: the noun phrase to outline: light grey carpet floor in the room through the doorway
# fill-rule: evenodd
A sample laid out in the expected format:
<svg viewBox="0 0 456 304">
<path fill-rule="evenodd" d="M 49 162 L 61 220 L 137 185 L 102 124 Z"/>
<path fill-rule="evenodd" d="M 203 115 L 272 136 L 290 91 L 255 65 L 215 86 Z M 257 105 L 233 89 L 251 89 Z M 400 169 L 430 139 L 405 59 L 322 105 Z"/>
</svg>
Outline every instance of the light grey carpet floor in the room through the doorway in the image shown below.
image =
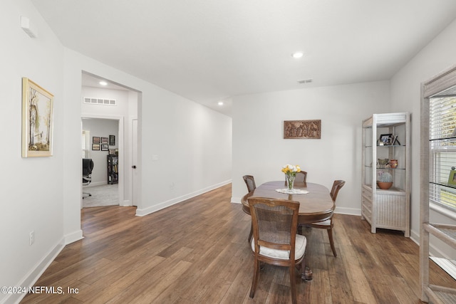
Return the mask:
<svg viewBox="0 0 456 304">
<path fill-rule="evenodd" d="M 83 187 L 83 192 L 83 208 L 119 205 L 118 184 Z"/>
</svg>

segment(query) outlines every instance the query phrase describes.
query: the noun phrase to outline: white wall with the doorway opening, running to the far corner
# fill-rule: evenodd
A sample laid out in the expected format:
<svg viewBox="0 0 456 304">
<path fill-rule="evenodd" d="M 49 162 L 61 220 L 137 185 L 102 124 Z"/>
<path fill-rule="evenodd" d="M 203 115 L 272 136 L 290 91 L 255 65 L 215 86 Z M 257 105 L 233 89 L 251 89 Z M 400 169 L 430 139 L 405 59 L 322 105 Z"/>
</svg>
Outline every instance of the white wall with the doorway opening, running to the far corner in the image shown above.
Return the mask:
<svg viewBox="0 0 456 304">
<path fill-rule="evenodd" d="M 231 182 L 231 117 L 66 49 L 73 112 L 81 112 L 83 70 L 139 92 L 138 215 Z M 79 134 L 80 128 L 72 132 Z"/>
</svg>

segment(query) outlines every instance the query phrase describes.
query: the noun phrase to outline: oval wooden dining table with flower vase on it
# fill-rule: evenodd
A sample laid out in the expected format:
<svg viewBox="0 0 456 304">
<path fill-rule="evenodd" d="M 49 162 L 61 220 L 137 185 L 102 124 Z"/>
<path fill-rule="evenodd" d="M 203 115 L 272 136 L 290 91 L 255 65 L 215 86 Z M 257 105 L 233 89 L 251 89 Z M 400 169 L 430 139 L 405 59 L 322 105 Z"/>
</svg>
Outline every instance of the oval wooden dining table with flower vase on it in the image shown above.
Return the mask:
<svg viewBox="0 0 456 304">
<path fill-rule="evenodd" d="M 289 193 L 286 193 L 289 192 Z M 294 184 L 294 189 L 288 191 L 284 181 L 265 182 L 242 197 L 242 210 L 250 214 L 248 199 L 264 197 L 268 199 L 288 199 L 299 202 L 298 224 L 311 224 L 331 219 L 336 208 L 328 188 L 321 184 L 304 182 Z M 309 248 L 309 240 L 307 242 Z M 311 280 L 311 270 L 307 265 L 301 267 L 301 278 Z"/>
</svg>

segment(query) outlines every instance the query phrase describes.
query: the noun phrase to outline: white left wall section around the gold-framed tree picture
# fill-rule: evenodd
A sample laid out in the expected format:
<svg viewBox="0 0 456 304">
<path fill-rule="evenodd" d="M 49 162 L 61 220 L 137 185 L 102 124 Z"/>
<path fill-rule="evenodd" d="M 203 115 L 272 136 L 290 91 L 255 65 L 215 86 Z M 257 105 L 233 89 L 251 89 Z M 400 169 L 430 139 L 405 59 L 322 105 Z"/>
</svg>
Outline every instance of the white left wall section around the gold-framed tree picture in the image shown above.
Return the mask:
<svg viewBox="0 0 456 304">
<path fill-rule="evenodd" d="M 29 38 L 21 29 L 21 16 L 39 28 L 38 38 Z M 32 283 L 49 262 L 46 257 L 54 256 L 64 243 L 63 47 L 28 0 L 1 1 L 0 28 L 0 125 L 4 142 L 0 285 L 24 286 Z M 22 77 L 54 95 L 52 157 L 21 158 Z M 28 244 L 30 231 L 35 231 L 36 237 L 32 246 Z M 73 232 L 78 234 L 78 227 Z M 0 303 L 8 296 L 0 293 Z"/>
</svg>

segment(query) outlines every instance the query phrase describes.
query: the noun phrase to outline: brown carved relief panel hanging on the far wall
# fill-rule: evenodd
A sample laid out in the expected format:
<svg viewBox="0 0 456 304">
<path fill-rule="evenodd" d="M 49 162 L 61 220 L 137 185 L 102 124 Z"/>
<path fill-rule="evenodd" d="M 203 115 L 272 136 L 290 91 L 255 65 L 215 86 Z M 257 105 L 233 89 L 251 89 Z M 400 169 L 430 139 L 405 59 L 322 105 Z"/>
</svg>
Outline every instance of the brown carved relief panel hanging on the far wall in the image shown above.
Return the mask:
<svg viewBox="0 0 456 304">
<path fill-rule="evenodd" d="M 285 120 L 284 138 L 320 139 L 321 120 Z"/>
</svg>

